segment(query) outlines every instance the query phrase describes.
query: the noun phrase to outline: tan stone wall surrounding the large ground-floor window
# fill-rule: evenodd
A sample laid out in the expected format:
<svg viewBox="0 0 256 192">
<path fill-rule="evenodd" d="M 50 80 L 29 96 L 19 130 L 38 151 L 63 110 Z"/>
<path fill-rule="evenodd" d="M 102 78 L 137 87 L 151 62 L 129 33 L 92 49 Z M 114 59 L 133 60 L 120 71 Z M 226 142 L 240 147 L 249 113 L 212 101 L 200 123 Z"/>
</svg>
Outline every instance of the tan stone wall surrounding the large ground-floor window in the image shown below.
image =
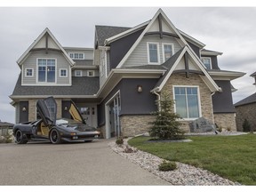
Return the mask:
<svg viewBox="0 0 256 192">
<path fill-rule="evenodd" d="M 209 120 L 211 123 L 214 123 L 211 91 L 207 85 L 204 84 L 204 81 L 200 76 L 196 74 L 190 74 L 189 78 L 186 78 L 185 74 L 172 74 L 166 84 L 164 84 L 164 88 L 162 90 L 162 92 L 167 92 L 170 94 L 172 99 L 174 99 L 172 92 L 173 85 L 199 86 L 202 116 L 204 116 L 204 118 Z M 190 121 L 181 121 L 183 125 L 180 128 L 185 132 L 189 132 L 189 122 Z"/>
</svg>

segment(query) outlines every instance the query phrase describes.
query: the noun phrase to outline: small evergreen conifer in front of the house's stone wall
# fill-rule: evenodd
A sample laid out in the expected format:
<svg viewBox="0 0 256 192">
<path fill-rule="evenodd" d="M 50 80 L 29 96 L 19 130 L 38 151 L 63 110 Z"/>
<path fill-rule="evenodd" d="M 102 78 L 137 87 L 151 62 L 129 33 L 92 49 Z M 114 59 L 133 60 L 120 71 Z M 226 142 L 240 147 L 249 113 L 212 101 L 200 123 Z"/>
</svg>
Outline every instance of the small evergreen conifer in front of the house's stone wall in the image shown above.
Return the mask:
<svg viewBox="0 0 256 192">
<path fill-rule="evenodd" d="M 152 124 L 149 128 L 150 136 L 160 140 L 184 139 L 184 132 L 180 130 L 181 123 L 177 121 L 181 117 L 178 114 L 172 113 L 173 101 L 169 95 L 164 93 L 162 99 L 158 102 L 159 110 L 153 112 L 156 120 L 149 123 Z"/>
</svg>

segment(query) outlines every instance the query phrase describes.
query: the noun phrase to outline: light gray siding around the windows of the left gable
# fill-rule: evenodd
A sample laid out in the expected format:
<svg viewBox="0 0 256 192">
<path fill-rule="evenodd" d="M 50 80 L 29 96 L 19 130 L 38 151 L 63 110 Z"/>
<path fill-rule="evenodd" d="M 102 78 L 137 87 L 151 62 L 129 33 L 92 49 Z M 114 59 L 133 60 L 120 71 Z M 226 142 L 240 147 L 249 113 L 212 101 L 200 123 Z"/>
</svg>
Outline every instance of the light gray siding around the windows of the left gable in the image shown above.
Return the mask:
<svg viewBox="0 0 256 192">
<path fill-rule="evenodd" d="M 56 84 L 70 84 L 69 81 L 69 71 L 70 71 L 70 64 L 68 63 L 68 60 L 64 57 L 64 55 L 60 52 L 48 52 L 48 54 L 45 53 L 45 51 L 37 51 L 37 52 L 31 52 L 28 56 L 28 58 L 24 61 L 22 68 L 22 78 L 23 84 L 36 84 L 36 78 L 37 78 L 37 59 L 56 59 L 57 64 L 57 71 L 56 71 Z M 34 76 L 33 77 L 26 77 L 25 68 L 33 68 L 34 69 Z M 60 77 L 60 68 L 67 68 L 68 69 L 68 77 Z"/>
</svg>

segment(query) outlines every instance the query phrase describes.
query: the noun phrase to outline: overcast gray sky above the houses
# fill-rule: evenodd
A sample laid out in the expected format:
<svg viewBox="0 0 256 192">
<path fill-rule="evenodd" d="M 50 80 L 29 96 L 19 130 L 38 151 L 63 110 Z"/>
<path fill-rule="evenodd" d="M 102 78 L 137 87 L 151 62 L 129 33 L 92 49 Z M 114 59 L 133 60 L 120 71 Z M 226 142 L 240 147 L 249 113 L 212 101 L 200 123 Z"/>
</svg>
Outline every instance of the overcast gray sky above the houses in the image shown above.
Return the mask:
<svg viewBox="0 0 256 192">
<path fill-rule="evenodd" d="M 44 28 L 62 46 L 93 47 L 95 25 L 134 27 L 152 19 L 159 8 L 206 49 L 223 52 L 218 56 L 221 69 L 246 73 L 232 81 L 238 89 L 234 103 L 255 92 L 250 76 L 256 71 L 255 7 L 0 7 L 0 120 L 15 121 L 9 96 L 20 74 L 16 60 Z"/>
</svg>

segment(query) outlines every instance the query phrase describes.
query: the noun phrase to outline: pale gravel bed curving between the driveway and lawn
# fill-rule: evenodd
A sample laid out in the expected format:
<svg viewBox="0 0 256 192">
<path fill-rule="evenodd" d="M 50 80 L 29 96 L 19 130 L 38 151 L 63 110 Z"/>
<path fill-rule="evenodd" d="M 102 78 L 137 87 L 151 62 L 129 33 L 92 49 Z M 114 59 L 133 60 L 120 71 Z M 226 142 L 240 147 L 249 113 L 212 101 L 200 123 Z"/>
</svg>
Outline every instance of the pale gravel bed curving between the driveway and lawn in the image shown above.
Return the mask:
<svg viewBox="0 0 256 192">
<path fill-rule="evenodd" d="M 181 164 L 177 162 L 178 169 L 170 172 L 160 172 L 158 171 L 158 165 L 164 160 L 158 156 L 153 156 L 146 152 L 140 151 L 137 148 L 132 148 L 128 145 L 126 139 L 124 140 L 124 145 L 116 145 L 115 141 L 108 144 L 113 151 L 115 151 L 120 156 L 132 161 L 134 164 L 139 164 L 143 169 L 152 172 L 156 176 L 167 180 L 172 185 L 182 185 L 182 186 L 217 186 L 217 185 L 240 185 L 233 181 L 221 178 L 219 175 L 213 174 L 206 170 L 196 168 L 188 164 Z M 125 153 L 125 150 L 132 149 L 132 153 Z M 131 152 L 131 151 L 130 151 Z"/>
</svg>

